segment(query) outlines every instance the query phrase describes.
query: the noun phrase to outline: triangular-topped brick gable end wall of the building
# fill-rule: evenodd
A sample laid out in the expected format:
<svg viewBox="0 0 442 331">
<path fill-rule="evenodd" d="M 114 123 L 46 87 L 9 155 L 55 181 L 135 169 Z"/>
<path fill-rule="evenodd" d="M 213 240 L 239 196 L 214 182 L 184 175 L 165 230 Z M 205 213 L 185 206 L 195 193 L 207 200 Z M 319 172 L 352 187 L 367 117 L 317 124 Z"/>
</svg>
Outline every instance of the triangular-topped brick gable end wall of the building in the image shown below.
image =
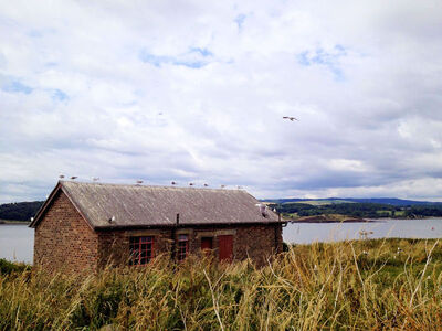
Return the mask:
<svg viewBox="0 0 442 331">
<path fill-rule="evenodd" d="M 35 227 L 34 265 L 45 271 L 95 270 L 98 236 L 59 191 Z"/>
</svg>

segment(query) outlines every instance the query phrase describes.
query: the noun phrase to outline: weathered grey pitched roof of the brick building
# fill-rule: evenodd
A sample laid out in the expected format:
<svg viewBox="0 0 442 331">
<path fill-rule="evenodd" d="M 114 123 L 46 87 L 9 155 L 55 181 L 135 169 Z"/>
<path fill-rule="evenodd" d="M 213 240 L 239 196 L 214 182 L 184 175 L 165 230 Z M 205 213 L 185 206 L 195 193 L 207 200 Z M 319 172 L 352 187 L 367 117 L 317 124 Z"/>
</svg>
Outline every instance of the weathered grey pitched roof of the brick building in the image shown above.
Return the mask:
<svg viewBox="0 0 442 331">
<path fill-rule="evenodd" d="M 62 190 L 83 217 L 95 228 L 280 223 L 260 202 L 243 190 L 217 190 L 176 186 L 120 185 L 60 181 L 36 213 L 35 227 L 51 200 Z M 109 223 L 109 218 L 115 217 Z"/>
</svg>

